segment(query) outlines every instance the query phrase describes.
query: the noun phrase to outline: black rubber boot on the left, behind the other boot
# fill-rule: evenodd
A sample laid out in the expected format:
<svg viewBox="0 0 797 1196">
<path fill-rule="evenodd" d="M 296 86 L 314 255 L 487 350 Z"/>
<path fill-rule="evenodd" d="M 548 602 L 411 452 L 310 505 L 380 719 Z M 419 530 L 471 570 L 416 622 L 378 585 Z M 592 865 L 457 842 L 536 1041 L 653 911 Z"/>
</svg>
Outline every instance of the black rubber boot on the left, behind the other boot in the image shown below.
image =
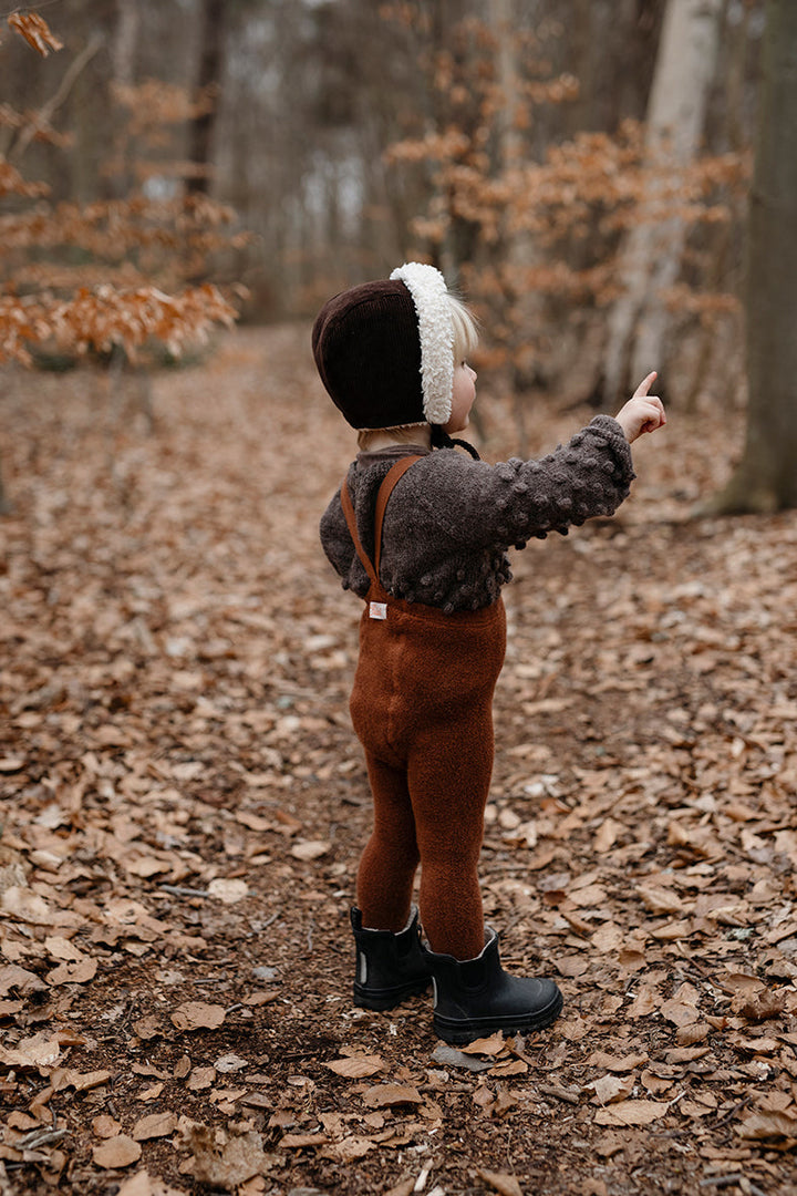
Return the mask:
<svg viewBox="0 0 797 1196">
<path fill-rule="evenodd" d="M 409 996 L 425 993 L 431 983 L 427 952 L 421 945 L 418 910 L 413 905 L 403 930 L 368 930 L 362 914 L 351 910 L 357 946 L 354 1003 L 362 1009 L 392 1009 Z"/>
</svg>

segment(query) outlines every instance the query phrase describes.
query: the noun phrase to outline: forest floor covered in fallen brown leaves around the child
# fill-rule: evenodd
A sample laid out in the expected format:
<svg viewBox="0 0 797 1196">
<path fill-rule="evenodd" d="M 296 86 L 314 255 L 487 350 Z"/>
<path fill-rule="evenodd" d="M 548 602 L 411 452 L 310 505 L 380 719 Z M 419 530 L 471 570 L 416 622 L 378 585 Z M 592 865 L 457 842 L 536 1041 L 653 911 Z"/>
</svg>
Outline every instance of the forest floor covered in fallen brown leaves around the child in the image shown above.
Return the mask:
<svg viewBox="0 0 797 1196">
<path fill-rule="evenodd" d="M 352 437 L 307 329 L 158 373 L 151 432 L 90 370 L 1 383 L 0 1196 L 797 1191 L 797 513 L 689 518 L 740 413 L 515 554 L 483 886 L 565 1008 L 464 1052 L 350 1000 Z"/>
</svg>

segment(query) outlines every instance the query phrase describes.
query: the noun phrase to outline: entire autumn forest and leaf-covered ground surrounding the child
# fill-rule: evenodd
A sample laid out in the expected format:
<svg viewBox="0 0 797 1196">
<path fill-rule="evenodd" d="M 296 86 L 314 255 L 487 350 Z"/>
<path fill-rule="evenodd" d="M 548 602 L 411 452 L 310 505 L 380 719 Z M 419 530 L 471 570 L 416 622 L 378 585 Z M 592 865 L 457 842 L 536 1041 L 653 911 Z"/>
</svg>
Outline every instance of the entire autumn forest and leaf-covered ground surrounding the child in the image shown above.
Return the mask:
<svg viewBox="0 0 797 1196">
<path fill-rule="evenodd" d="M 797 1192 L 796 232 L 797 0 L 0 11 L 0 1196 Z M 309 322 L 416 256 L 486 459 L 669 414 L 513 559 L 485 910 L 566 1012 L 453 1062 L 349 1008 L 318 542 Z"/>
</svg>

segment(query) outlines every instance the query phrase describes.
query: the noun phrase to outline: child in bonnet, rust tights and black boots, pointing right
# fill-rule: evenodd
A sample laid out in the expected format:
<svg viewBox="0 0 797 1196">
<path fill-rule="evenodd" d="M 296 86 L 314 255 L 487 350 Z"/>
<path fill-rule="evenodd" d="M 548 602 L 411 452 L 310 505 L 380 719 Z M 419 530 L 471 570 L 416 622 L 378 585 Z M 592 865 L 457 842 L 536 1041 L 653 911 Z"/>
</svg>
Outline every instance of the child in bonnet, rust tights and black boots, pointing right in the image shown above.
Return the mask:
<svg viewBox="0 0 797 1196">
<path fill-rule="evenodd" d="M 467 309 L 417 262 L 336 295 L 313 328 L 321 380 L 361 448 L 320 525 L 344 588 L 366 599 L 350 709 L 374 830 L 351 910 L 354 999 L 390 1009 L 431 981 L 449 1043 L 538 1030 L 562 1009 L 553 981 L 503 971 L 482 914 L 505 550 L 611 515 L 634 477 L 630 441 L 666 422 L 654 373 L 617 419 L 596 416 L 548 457 L 488 465 L 450 439 L 476 398 L 476 343 Z M 418 864 L 430 950 L 411 904 Z"/>
</svg>

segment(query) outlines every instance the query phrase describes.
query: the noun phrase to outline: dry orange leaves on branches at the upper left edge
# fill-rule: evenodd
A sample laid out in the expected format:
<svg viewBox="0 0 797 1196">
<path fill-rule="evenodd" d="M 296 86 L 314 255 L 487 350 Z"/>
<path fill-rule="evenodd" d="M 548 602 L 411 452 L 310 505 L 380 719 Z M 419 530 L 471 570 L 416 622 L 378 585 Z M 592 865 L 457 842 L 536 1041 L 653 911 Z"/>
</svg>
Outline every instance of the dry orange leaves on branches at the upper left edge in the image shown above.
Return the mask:
<svg viewBox="0 0 797 1196">
<path fill-rule="evenodd" d="M 35 14 L 13 13 L 8 24 L 41 54 L 61 49 Z M 152 147 L 167 147 L 165 128 L 207 111 L 213 102 L 209 93 L 191 100 L 157 80 L 119 89 L 116 98 L 130 114 L 124 136 L 143 136 Z M 35 139 L 56 146 L 68 144 L 44 116 L 10 104 L 0 108 L 0 124 L 32 128 Z M 190 170 L 191 164 L 155 161 L 140 173 L 185 177 Z M 47 184 L 27 182 L 0 158 L 0 197 L 41 200 L 48 193 Z M 30 364 L 37 346 L 76 353 L 118 346 L 133 358 L 159 342 L 178 355 L 188 342 L 207 338 L 214 324 L 229 325 L 235 318 L 229 297 L 209 282 L 185 283 L 206 275 L 209 255 L 246 240 L 246 234 L 231 232 L 234 220 L 231 208 L 206 195 L 155 202 L 134 194 L 88 206 L 38 203 L 1 215 L 0 362 Z M 69 262 L 76 249 L 88 264 Z"/>
</svg>

